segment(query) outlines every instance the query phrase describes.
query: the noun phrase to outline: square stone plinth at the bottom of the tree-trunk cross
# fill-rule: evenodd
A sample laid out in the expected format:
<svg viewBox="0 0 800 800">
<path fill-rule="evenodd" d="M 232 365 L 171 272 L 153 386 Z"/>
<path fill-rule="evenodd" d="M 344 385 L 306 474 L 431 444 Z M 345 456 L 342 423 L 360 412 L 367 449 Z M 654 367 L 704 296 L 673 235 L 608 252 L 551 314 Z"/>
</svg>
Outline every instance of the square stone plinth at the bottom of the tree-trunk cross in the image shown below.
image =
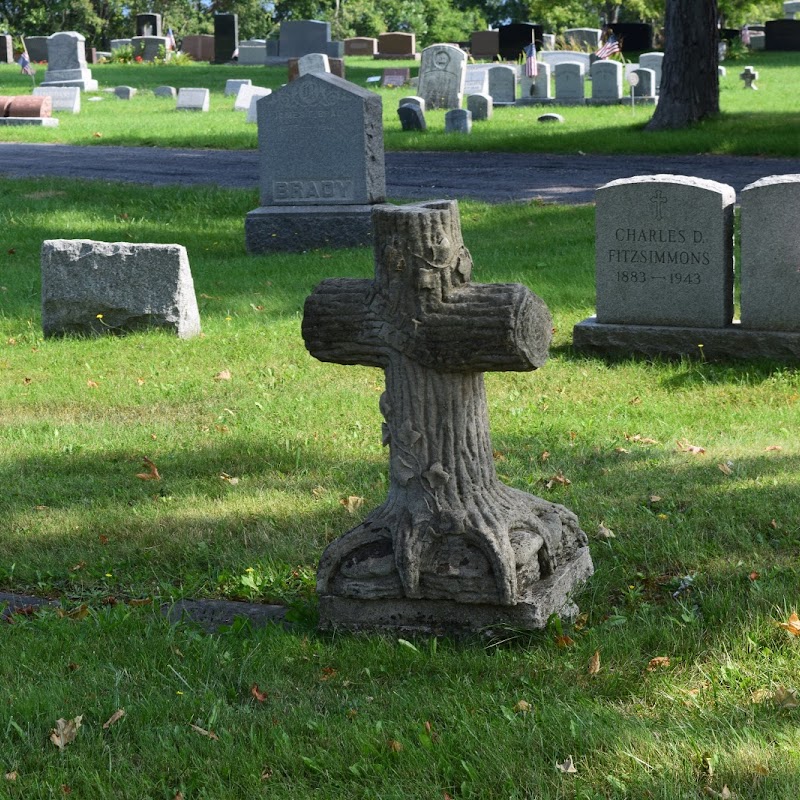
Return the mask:
<svg viewBox="0 0 800 800">
<path fill-rule="evenodd" d="M 501 627 L 537 630 L 551 614 L 572 620 L 578 607 L 571 595 L 593 573 L 589 548 L 540 581 L 529 603 L 514 606 L 456 603 L 451 600 L 358 600 L 322 595 L 319 598 L 320 630 L 392 631 L 433 636 L 491 633 Z"/>
</svg>

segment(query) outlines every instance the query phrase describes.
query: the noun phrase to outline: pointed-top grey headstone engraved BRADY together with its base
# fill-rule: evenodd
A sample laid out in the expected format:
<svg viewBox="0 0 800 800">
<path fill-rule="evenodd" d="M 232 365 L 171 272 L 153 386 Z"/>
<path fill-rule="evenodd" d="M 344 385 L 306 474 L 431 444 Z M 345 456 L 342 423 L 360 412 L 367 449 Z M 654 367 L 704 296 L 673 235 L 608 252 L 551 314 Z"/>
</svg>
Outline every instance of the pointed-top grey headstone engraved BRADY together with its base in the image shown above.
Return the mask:
<svg viewBox="0 0 800 800">
<path fill-rule="evenodd" d="M 381 98 L 323 73 L 257 108 L 261 207 L 245 220 L 248 251 L 369 244 L 386 196 Z"/>
</svg>

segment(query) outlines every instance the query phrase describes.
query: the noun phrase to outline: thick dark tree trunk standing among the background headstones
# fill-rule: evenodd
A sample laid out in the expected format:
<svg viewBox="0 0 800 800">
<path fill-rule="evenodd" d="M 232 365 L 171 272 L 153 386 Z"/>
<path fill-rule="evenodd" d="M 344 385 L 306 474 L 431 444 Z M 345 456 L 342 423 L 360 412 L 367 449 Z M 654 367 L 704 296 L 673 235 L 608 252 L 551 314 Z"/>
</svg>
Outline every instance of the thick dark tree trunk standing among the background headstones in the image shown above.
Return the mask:
<svg viewBox="0 0 800 800">
<path fill-rule="evenodd" d="M 649 131 L 719 113 L 717 0 L 667 0 L 664 38 L 661 96 Z"/>
</svg>

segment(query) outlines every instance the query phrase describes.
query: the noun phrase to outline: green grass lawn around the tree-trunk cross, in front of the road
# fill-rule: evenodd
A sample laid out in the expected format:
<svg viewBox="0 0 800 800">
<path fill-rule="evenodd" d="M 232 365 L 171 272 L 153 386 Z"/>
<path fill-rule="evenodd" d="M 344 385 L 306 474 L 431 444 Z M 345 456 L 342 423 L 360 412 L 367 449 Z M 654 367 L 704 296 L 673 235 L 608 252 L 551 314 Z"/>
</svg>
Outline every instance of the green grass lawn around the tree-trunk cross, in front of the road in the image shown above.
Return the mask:
<svg viewBox="0 0 800 800">
<path fill-rule="evenodd" d="M 487 388 L 502 479 L 589 533 L 583 616 L 491 642 L 318 635 L 317 559 L 384 498 L 387 453 L 382 375 L 312 359 L 300 318 L 372 255 L 248 256 L 256 205 L 0 181 L 0 589 L 87 606 L 0 625 L 0 797 L 796 798 L 800 640 L 777 623 L 800 603 L 797 369 L 581 357 L 593 209 L 462 203 L 475 280 L 553 313 L 548 363 Z M 57 237 L 185 245 L 203 336 L 44 340 Z M 156 611 L 184 596 L 298 623 L 211 636 Z"/>
</svg>

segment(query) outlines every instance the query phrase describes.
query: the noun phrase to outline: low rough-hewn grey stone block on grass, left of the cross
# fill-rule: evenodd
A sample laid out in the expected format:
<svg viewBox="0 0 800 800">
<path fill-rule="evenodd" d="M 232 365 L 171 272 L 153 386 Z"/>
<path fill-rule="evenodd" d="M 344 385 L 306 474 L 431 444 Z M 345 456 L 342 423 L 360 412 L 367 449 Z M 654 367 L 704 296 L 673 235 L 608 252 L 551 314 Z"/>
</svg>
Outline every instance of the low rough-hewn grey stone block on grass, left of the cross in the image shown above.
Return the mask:
<svg viewBox="0 0 800 800">
<path fill-rule="evenodd" d="M 42 243 L 45 336 L 106 335 L 167 328 L 200 333 L 186 248 L 90 239 Z"/>
</svg>

